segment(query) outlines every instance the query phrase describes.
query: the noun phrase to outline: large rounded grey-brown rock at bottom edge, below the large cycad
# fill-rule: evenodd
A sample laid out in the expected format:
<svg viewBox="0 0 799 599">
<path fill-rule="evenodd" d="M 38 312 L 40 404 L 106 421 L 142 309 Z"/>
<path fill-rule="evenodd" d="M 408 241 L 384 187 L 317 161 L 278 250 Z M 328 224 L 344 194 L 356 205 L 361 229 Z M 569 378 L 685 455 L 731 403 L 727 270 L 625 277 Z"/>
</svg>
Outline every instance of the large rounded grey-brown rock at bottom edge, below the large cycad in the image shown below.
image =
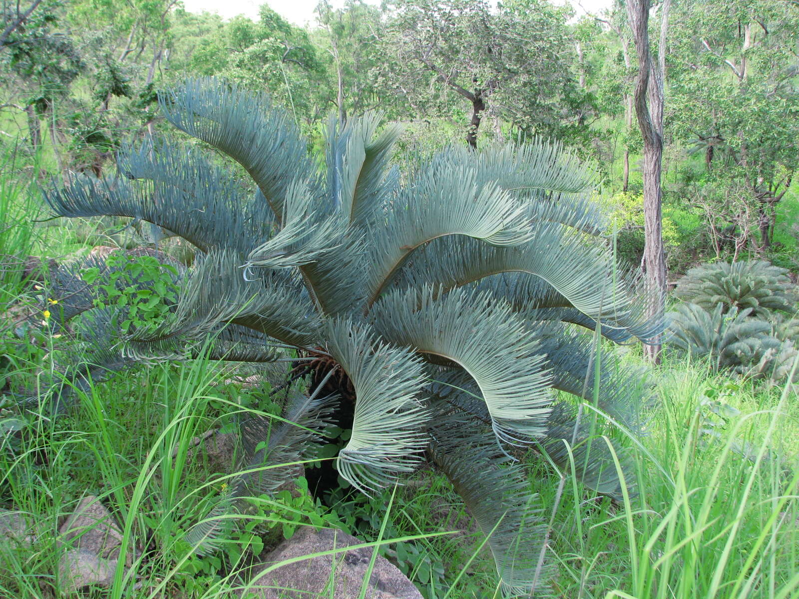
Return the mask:
<svg viewBox="0 0 799 599">
<path fill-rule="evenodd" d="M 356 545 L 360 542 L 340 530 L 324 529 L 316 532 L 312 526 L 302 526 L 291 539 L 278 545 L 267 554 L 262 564 L 256 566 L 252 584 L 240 593 L 240 597 L 246 597 L 247 593 L 252 593 L 259 599 L 358 597 L 369 561 L 372 560 L 372 547 L 295 561 L 269 573 L 263 571 L 270 565 L 292 557 Z M 366 599 L 422 599 L 422 593 L 419 593 L 419 589 L 416 589 L 396 565 L 384 557 L 377 556 L 365 597 Z"/>
</svg>

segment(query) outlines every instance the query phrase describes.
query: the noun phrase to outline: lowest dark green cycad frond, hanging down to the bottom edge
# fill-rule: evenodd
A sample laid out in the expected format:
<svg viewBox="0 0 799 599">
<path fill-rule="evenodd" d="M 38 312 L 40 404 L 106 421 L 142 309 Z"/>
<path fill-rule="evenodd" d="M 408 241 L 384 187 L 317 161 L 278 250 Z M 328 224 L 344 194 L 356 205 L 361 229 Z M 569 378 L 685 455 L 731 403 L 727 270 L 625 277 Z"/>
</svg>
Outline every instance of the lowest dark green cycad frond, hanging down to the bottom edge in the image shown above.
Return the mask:
<svg viewBox="0 0 799 599">
<path fill-rule="evenodd" d="M 547 580 L 541 501 L 519 464 L 471 419 L 450 415 L 431 428 L 435 465 L 450 479 L 488 536 L 505 597 L 531 597 Z"/>
</svg>

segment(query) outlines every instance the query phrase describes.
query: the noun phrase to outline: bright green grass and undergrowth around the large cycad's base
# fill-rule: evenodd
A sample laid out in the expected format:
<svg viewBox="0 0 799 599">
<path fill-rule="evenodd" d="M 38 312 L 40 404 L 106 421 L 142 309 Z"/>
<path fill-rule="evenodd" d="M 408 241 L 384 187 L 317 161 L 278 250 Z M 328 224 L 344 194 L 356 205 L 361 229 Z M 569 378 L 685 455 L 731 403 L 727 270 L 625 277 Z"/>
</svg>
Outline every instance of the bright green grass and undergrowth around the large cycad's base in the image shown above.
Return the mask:
<svg viewBox="0 0 799 599">
<path fill-rule="evenodd" d="M 637 361 L 636 353 L 625 359 Z M 46 363 L 45 357 L 35 367 Z M 97 597 L 233 597 L 231 589 L 247 580 L 256 555 L 300 524 L 336 526 L 364 542 L 383 543 L 378 553 L 428 599 L 499 597 L 483 535 L 446 479 L 426 470 L 407 486 L 373 498 L 348 496 L 332 506 L 311 498 L 300 479 L 299 494 L 253 501 L 242 517 L 247 526 L 221 550 L 194 553 L 181 535 L 205 516 L 229 474 L 186 460 L 192 439 L 217 427 L 230 430 L 242 411 L 275 410 L 268 387 L 225 384 L 232 372 L 204 360 L 143 367 L 78 392 L 77 405 L 59 419 L 47 417 L 46 399 L 22 412 L 6 401 L 0 506 L 50 533 L 30 546 L 4 545 L 0 596 L 60 596 L 53 532 L 93 494 L 120 522 L 133 561 Z M 658 388 L 662 401 L 646 415 L 646 434 L 622 443 L 635 470 L 626 474 L 624 497 L 597 496 L 568 472 L 535 460 L 539 471 L 530 480 L 551 526 L 549 592 L 799 596 L 796 395 L 682 362 L 660 368 Z M 585 418 L 592 414 L 586 406 Z M 592 442 L 603 442 L 600 433 L 626 438 L 597 419 Z M 398 538 L 414 539 L 394 542 Z"/>
</svg>

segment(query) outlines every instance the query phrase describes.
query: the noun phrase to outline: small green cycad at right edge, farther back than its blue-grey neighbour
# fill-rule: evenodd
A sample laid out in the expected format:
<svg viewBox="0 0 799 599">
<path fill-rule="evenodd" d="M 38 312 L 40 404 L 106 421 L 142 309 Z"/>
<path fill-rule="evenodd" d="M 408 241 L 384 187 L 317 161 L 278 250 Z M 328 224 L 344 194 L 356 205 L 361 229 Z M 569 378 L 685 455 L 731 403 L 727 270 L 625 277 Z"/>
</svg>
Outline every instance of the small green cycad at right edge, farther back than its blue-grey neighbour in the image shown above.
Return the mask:
<svg viewBox="0 0 799 599">
<path fill-rule="evenodd" d="M 675 293 L 709 312 L 721 304 L 725 312 L 749 309 L 759 318 L 775 311 L 793 315 L 797 295 L 787 273 L 763 260 L 702 264 L 679 280 Z"/>
</svg>

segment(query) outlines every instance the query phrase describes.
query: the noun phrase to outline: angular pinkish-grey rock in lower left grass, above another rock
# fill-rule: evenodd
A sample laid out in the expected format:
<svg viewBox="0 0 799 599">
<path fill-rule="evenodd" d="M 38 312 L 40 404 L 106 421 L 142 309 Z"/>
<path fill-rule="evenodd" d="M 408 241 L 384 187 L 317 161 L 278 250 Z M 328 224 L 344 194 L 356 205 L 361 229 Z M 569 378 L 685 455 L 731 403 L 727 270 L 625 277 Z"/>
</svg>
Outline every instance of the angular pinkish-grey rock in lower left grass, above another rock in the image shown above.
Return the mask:
<svg viewBox="0 0 799 599">
<path fill-rule="evenodd" d="M 74 549 L 84 549 L 104 559 L 119 557 L 122 532 L 109 510 L 93 495 L 81 499 L 58 532 L 62 534 L 60 541 Z"/>
</svg>

